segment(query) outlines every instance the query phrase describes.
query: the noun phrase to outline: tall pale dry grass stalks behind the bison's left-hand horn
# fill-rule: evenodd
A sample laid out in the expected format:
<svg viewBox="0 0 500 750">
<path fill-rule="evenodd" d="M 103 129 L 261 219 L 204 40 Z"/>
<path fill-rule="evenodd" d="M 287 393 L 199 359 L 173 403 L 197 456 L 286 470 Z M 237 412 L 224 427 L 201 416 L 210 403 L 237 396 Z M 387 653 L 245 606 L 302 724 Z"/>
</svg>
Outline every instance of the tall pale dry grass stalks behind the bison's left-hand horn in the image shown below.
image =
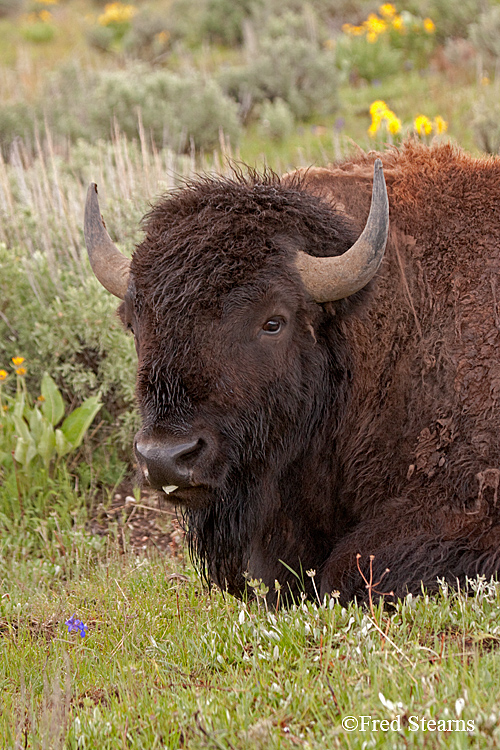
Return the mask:
<svg viewBox="0 0 500 750">
<path fill-rule="evenodd" d="M 107 211 L 111 230 L 131 249 L 140 237 L 138 224 L 148 201 L 197 167 L 211 167 L 209 159 L 195 162 L 168 149 L 151 151 L 143 130 L 139 135 L 137 142 L 129 142 L 115 130 L 110 143 L 56 148 L 49 134 L 36 144 L 34 158 L 22 141 L 9 162 L 0 155 L 0 242 L 28 248 L 32 255 L 42 250 L 54 278 L 58 264 L 85 275 L 83 206 L 89 183 L 96 182 L 103 212 L 113 202 Z M 219 170 L 223 159 L 217 155 Z"/>
</svg>

